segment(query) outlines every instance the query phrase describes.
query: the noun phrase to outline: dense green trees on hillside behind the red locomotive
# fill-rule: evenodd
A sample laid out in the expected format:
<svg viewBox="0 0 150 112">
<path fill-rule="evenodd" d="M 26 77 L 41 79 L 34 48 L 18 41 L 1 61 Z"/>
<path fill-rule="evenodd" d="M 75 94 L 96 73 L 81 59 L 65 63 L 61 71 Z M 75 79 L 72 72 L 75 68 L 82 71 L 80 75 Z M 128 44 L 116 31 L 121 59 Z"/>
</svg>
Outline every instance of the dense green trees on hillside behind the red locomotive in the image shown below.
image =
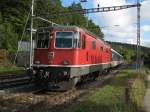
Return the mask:
<svg viewBox="0 0 150 112">
<path fill-rule="evenodd" d="M 22 31 L 30 11 L 31 0 L 0 0 L 0 48 L 7 49 L 9 52 L 15 52 L 17 41 L 22 35 Z M 52 18 L 51 14 L 62 11 L 74 11 L 82 9 L 80 3 L 72 3 L 69 7 L 64 7 L 60 0 L 36 0 L 34 4 L 34 14 L 49 19 L 60 25 L 76 25 L 86 27 L 88 21 L 90 28 L 86 27 L 93 33 L 103 38 L 103 34 L 98 26 L 92 20 L 87 20 L 83 14 L 72 14 L 69 16 L 59 16 Z M 29 28 L 28 21 L 27 28 Z M 34 28 L 49 26 L 50 24 L 41 20 L 34 21 Z M 25 33 L 24 40 L 29 39 L 29 32 Z"/>
</svg>

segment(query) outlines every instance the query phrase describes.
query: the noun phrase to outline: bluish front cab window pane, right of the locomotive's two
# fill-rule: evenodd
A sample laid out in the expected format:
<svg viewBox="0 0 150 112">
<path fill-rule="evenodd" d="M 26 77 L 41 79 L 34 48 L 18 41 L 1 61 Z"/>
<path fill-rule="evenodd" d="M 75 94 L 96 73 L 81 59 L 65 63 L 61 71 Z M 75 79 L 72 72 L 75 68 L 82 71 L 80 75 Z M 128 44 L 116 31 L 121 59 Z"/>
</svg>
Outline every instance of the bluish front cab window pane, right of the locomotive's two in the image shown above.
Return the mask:
<svg viewBox="0 0 150 112">
<path fill-rule="evenodd" d="M 55 47 L 56 48 L 72 48 L 73 32 L 56 32 Z"/>
</svg>

